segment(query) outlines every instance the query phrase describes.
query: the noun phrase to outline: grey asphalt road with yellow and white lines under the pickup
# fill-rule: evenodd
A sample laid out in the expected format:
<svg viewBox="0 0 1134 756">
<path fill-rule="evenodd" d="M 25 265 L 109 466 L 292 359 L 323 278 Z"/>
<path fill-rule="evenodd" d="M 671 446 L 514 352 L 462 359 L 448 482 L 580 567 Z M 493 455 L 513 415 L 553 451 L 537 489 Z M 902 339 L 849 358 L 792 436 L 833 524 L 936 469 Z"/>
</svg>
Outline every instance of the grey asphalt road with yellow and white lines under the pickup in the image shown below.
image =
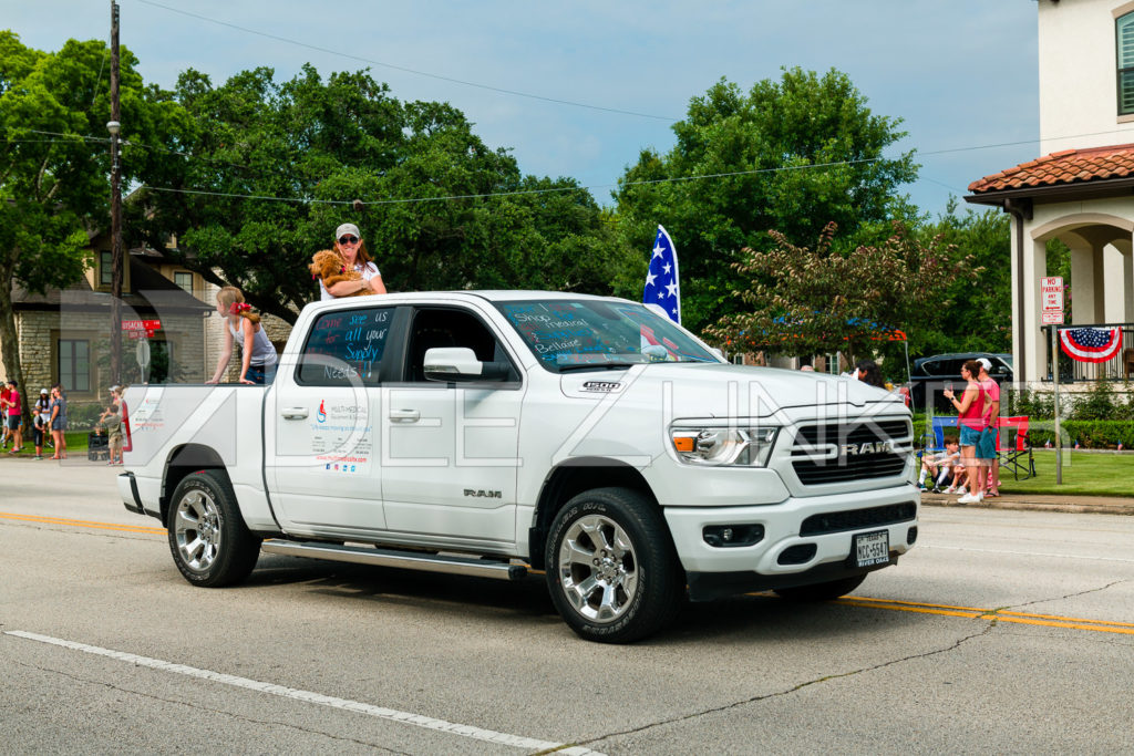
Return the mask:
<svg viewBox="0 0 1134 756">
<path fill-rule="evenodd" d="M 578 640 L 542 583 L 262 555 L 185 583 L 118 468 L 0 460 L 0 753 L 1134 749 L 1134 518 L 925 507 L 840 602 Z"/>
</svg>

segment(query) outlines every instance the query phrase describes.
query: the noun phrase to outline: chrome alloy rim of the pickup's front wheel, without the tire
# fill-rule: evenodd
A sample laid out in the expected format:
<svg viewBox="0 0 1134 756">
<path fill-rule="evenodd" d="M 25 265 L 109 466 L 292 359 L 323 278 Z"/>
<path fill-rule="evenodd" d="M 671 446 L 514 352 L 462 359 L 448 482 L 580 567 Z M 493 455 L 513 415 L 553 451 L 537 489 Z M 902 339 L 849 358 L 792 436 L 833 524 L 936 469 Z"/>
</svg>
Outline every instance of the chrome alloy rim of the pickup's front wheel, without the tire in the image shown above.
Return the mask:
<svg viewBox="0 0 1134 756">
<path fill-rule="evenodd" d="M 637 592 L 634 543 L 608 517 L 579 518 L 559 547 L 559 576 L 564 595 L 579 614 L 592 622 L 612 622 Z"/>
</svg>

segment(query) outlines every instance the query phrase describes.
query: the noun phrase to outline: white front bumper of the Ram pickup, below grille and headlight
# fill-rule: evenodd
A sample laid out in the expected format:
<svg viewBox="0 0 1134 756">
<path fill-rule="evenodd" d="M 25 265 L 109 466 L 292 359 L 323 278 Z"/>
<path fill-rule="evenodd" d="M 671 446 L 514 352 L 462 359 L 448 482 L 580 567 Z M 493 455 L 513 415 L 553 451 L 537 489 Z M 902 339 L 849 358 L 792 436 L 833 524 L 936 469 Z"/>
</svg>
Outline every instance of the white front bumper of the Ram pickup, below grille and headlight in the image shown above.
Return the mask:
<svg viewBox="0 0 1134 756">
<path fill-rule="evenodd" d="M 835 580 L 885 567 L 857 566 L 852 551 L 855 535 L 862 533 L 885 530 L 888 563 L 894 563 L 917 537 L 920 503 L 917 489 L 903 484 L 877 491 L 789 498 L 778 504 L 667 507 L 665 515 L 682 567 L 689 576 L 691 593 L 697 598 L 709 597 L 696 595 L 697 583 L 704 587 L 710 583 L 743 583 L 743 591 L 756 591 Z M 737 526 L 760 526 L 762 535 L 751 545 L 712 545 L 705 540 L 705 528 L 742 532 Z"/>
</svg>

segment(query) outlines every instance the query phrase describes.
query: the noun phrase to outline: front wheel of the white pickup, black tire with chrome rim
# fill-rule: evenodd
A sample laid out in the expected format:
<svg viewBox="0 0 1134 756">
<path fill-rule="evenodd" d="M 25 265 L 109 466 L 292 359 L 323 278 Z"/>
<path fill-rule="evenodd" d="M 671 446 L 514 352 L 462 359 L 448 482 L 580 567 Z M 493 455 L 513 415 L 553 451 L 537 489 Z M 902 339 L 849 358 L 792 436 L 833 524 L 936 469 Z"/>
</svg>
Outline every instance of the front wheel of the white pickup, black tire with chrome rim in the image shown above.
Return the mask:
<svg viewBox="0 0 1134 756">
<path fill-rule="evenodd" d="M 685 581 L 657 507 L 629 489 L 585 491 L 559 510 L 544 547 L 548 588 L 582 638 L 628 643 L 657 632 Z"/>
</svg>

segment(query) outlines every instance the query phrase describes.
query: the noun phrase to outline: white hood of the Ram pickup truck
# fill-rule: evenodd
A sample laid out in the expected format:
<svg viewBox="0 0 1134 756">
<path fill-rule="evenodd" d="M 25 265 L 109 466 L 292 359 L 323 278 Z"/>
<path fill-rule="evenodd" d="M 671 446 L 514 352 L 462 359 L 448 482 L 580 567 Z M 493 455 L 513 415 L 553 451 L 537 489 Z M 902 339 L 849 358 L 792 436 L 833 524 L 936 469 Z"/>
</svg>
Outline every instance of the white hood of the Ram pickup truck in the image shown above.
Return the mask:
<svg viewBox="0 0 1134 756">
<path fill-rule="evenodd" d="M 897 393 L 855 379 L 723 363 L 652 363 L 625 371 L 567 373 L 560 376 L 560 389 L 574 399 L 669 405 L 667 411 L 674 418 L 770 417 L 781 410 L 831 405 L 869 405 L 873 411 L 905 409 Z"/>
</svg>

